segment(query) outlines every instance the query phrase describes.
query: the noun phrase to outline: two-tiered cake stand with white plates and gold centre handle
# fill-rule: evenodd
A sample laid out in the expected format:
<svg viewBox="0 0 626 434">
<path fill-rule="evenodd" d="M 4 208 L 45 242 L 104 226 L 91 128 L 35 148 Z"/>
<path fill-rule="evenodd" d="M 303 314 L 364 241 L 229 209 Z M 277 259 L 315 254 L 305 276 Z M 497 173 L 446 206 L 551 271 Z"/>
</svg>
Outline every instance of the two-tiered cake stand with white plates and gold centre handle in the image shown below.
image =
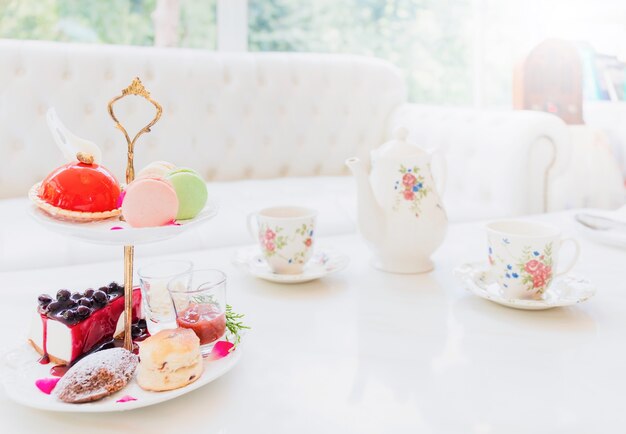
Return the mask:
<svg viewBox="0 0 626 434">
<path fill-rule="evenodd" d="M 156 116 L 154 119 L 143 127 L 132 139 L 113 111 L 113 105 L 128 95 L 142 97 L 156 108 Z M 108 108 L 109 114 L 113 118 L 116 127 L 122 131 L 128 145 L 126 166 L 126 183 L 128 184 L 132 182 L 135 177 L 133 159 L 137 139 L 142 134 L 150 132 L 150 128 L 152 128 L 161 117 L 162 108 L 159 103 L 150 97 L 150 93 L 143 87 L 138 78 L 135 78 L 132 84 L 122 91 L 121 95 L 111 100 Z M 88 223 L 59 220 L 48 215 L 35 205 L 32 206 L 33 217 L 50 230 L 87 242 L 124 246 L 124 347 L 128 350 L 134 349 L 131 321 L 135 245 L 175 237 L 191 227 L 208 221 L 216 214 L 217 205 L 209 198 L 205 208 L 191 220 L 177 221 L 176 224 L 168 226 L 133 228 L 121 219 L 114 218 Z M 35 387 L 36 380 L 50 376 L 50 368 L 38 363 L 38 354 L 25 342 L 18 348 L 0 356 L 0 381 L 4 385 L 8 397 L 29 407 L 73 413 L 123 411 L 164 402 L 202 387 L 228 372 L 238 362 L 240 356 L 241 351 L 237 350 L 230 353 L 227 357 L 219 358 L 219 360 L 205 359 L 204 373 L 202 376 L 197 381 L 180 389 L 166 392 L 149 392 L 141 389 L 134 380 L 131 380 L 123 389 L 123 392 L 118 392 L 118 394 L 127 394 L 123 399 L 118 400 L 118 394 L 114 394 L 91 403 L 68 404 L 42 393 L 42 391 Z M 129 397 L 132 397 L 132 399 L 127 399 Z"/>
</svg>

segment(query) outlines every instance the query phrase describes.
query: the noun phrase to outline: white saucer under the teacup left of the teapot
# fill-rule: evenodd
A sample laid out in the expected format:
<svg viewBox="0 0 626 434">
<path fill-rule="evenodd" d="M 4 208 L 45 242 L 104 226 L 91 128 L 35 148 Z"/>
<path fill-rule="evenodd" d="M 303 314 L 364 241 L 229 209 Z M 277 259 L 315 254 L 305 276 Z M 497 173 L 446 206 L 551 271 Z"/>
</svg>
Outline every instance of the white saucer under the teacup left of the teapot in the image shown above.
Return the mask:
<svg viewBox="0 0 626 434">
<path fill-rule="evenodd" d="M 348 265 L 346 255 L 333 250 L 316 249 L 311 260 L 300 274 L 276 274 L 263 259 L 257 246 L 245 247 L 235 252 L 233 264 L 240 270 L 261 279 L 277 283 L 304 283 L 343 270 Z"/>
</svg>

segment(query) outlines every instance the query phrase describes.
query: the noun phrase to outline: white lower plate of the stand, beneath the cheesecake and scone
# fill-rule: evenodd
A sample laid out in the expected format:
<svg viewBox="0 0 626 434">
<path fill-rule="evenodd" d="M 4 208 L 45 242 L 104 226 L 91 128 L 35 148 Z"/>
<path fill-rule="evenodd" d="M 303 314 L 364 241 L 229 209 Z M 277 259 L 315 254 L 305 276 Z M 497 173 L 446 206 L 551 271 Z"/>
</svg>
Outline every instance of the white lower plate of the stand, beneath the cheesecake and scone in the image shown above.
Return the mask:
<svg viewBox="0 0 626 434">
<path fill-rule="evenodd" d="M 230 371 L 241 357 L 241 345 L 228 356 L 219 360 L 204 359 L 204 373 L 195 382 L 180 389 L 167 392 L 149 392 L 143 390 L 133 378 L 128 385 L 117 393 L 99 401 L 84 404 L 68 404 L 59 401 L 54 395 L 46 395 L 35 386 L 41 378 L 51 378 L 53 364 L 41 365 L 39 354 L 28 344 L 6 353 L 2 359 L 0 380 L 9 398 L 27 407 L 40 410 L 70 413 L 105 413 L 127 411 L 169 401 L 205 386 Z M 130 395 L 136 401 L 116 402 L 123 396 Z"/>
</svg>

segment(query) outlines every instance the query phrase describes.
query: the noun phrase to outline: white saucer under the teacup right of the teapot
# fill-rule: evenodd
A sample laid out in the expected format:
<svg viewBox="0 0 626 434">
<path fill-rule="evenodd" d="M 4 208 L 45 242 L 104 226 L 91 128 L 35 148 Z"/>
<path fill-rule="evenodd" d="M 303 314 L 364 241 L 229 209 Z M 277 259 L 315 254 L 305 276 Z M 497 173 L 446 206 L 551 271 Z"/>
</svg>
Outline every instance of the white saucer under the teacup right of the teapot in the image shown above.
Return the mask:
<svg viewBox="0 0 626 434">
<path fill-rule="evenodd" d="M 505 298 L 500 286 L 489 272 L 489 266 L 485 263 L 463 264 L 454 270 L 454 274 L 471 293 L 514 309 L 544 310 L 571 306 L 588 300 L 596 293 L 596 288 L 589 281 L 572 275 L 565 275 L 554 279 L 544 294 L 543 300 Z"/>
</svg>

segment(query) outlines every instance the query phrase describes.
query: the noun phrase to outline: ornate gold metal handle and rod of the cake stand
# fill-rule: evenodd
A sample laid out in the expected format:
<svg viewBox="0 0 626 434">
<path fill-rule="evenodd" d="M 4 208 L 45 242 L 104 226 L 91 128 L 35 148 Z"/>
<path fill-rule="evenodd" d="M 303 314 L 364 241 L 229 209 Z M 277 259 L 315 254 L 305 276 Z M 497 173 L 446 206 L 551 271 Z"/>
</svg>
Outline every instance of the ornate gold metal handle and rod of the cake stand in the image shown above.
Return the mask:
<svg viewBox="0 0 626 434">
<path fill-rule="evenodd" d="M 139 132 L 130 139 L 128 135 L 128 131 L 126 128 L 122 126 L 120 121 L 115 116 L 115 112 L 113 111 L 113 104 L 115 104 L 120 99 L 124 98 L 128 95 L 140 96 L 148 100 L 154 108 L 156 108 L 156 115 L 152 121 L 145 127 L 143 127 Z M 115 122 L 115 126 L 119 129 L 126 139 L 126 143 L 128 144 L 128 159 L 126 162 L 126 184 L 130 184 L 135 179 L 135 166 L 134 166 L 134 158 L 135 158 L 135 142 L 144 133 L 149 133 L 150 128 L 157 123 L 157 121 L 161 118 L 161 113 L 163 113 L 163 109 L 161 105 L 153 100 L 150 97 L 150 92 L 143 87 L 141 80 L 139 77 L 135 77 L 133 82 L 126 89 L 122 90 L 122 94 L 116 96 L 109 102 L 109 115 L 113 118 L 113 122 Z M 131 325 L 133 322 L 133 262 L 135 256 L 135 247 L 134 246 L 124 246 L 124 348 L 128 351 L 133 350 L 133 337 L 131 331 Z"/>
</svg>

